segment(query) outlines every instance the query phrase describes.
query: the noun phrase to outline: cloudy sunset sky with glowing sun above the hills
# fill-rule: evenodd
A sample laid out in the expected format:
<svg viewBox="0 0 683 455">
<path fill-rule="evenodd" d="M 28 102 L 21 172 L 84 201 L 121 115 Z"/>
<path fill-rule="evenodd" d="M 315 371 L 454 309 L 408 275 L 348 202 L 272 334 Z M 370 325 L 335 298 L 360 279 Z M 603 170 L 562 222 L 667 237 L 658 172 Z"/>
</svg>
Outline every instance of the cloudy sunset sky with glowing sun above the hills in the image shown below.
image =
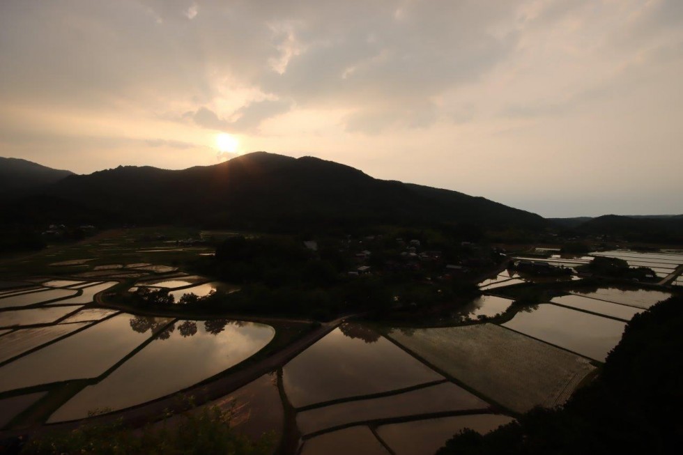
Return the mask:
<svg viewBox="0 0 683 455">
<path fill-rule="evenodd" d="M 252 151 L 546 217 L 683 213 L 681 0 L 1 0 L 0 155 Z"/>
</svg>

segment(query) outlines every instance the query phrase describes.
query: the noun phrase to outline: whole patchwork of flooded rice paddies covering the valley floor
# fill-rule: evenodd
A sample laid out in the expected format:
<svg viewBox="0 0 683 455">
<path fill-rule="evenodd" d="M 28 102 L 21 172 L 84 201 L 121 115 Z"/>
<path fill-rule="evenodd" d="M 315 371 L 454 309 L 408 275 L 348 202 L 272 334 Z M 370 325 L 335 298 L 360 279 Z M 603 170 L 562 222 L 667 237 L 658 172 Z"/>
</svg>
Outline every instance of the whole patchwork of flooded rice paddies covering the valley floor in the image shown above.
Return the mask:
<svg viewBox="0 0 683 455">
<path fill-rule="evenodd" d="M 140 246 L 139 234 L 0 264 L 3 437 L 120 417 L 151 422 L 192 397 L 196 410 L 229 410 L 250 438 L 268 433 L 273 453 L 433 454 L 461 429 L 486 433 L 565 403 L 599 373 L 626 323 L 680 285 L 677 277 L 671 288 L 582 286 L 572 275 L 545 300 L 518 304 L 507 291 L 553 281 L 504 270 L 432 327 L 155 314 L 117 307 L 117 298 L 146 288 L 178 301 L 240 287 L 185 272 L 210 247 L 163 237 Z M 666 270 L 683 258 L 605 254 Z"/>
</svg>

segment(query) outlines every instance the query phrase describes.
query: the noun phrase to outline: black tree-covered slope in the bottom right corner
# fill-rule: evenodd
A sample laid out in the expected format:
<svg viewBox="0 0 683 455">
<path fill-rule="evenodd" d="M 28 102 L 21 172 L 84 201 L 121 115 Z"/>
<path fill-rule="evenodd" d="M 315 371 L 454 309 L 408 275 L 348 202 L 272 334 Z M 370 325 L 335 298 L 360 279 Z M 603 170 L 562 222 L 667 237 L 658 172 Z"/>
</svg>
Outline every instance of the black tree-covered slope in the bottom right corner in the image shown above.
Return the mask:
<svg viewBox="0 0 683 455">
<path fill-rule="evenodd" d="M 683 440 L 682 326 L 680 295 L 636 314 L 599 378 L 563 408 L 535 408 L 487 435 L 463 431 L 438 454 L 677 452 Z"/>
</svg>

